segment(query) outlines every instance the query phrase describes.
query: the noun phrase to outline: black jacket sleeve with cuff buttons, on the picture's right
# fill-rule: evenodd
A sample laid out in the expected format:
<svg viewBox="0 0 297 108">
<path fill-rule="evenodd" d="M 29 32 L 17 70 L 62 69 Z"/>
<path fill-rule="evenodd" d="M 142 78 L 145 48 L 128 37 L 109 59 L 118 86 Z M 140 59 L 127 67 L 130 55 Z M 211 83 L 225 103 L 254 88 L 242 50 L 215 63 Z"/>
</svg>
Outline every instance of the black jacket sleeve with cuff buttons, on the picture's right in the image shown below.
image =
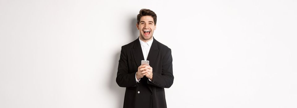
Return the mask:
<svg viewBox="0 0 297 108">
<path fill-rule="evenodd" d="M 163 57 L 162 63 L 162 73 L 160 74 L 153 74 L 153 80 L 148 81 L 149 84 L 155 85 L 162 88 L 169 88 L 173 84 L 173 71 L 172 71 L 172 55 L 171 49 L 166 52 L 165 56 Z M 154 71 L 154 69 L 153 69 Z M 154 73 L 154 72 L 153 72 Z"/>
</svg>

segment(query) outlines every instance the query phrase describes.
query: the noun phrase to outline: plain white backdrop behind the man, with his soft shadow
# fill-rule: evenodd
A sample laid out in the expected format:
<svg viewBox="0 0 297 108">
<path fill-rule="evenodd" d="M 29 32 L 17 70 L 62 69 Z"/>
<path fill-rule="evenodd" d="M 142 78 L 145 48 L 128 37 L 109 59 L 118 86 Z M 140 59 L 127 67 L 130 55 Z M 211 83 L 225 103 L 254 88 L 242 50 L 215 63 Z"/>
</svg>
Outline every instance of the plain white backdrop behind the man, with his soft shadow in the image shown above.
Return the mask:
<svg viewBox="0 0 297 108">
<path fill-rule="evenodd" d="M 121 108 L 121 46 L 158 16 L 168 108 L 296 108 L 297 2 L 0 0 L 1 108 Z"/>
</svg>

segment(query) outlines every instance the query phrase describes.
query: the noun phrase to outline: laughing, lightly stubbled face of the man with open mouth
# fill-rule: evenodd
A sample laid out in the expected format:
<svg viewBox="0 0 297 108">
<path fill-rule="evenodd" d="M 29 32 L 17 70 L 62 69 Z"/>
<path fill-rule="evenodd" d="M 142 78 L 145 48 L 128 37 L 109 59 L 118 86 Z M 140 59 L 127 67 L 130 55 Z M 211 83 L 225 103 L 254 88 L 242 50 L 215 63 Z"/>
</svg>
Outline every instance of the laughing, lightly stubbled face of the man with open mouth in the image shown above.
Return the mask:
<svg viewBox="0 0 297 108">
<path fill-rule="evenodd" d="M 139 30 L 139 38 L 144 42 L 151 40 L 156 30 L 154 19 L 151 16 L 142 16 L 136 27 Z"/>
</svg>

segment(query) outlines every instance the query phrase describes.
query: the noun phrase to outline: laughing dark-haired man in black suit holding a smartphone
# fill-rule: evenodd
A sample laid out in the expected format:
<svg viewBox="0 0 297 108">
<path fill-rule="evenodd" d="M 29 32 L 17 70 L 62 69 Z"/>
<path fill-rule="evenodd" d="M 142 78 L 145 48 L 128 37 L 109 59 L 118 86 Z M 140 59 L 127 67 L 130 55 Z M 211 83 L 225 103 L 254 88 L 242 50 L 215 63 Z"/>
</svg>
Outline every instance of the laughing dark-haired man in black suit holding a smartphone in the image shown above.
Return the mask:
<svg viewBox="0 0 297 108">
<path fill-rule="evenodd" d="M 164 88 L 173 84 L 171 49 L 158 42 L 157 15 L 142 9 L 137 15 L 139 38 L 122 46 L 117 84 L 126 87 L 124 108 L 166 108 Z M 141 65 L 148 60 L 150 65 Z"/>
</svg>

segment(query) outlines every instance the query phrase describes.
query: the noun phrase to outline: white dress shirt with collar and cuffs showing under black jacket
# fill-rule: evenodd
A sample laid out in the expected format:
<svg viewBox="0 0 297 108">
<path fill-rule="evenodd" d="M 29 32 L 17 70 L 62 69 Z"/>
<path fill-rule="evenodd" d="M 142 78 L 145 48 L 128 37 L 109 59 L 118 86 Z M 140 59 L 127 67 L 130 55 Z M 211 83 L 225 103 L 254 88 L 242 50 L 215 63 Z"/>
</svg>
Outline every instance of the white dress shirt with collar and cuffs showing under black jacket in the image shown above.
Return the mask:
<svg viewBox="0 0 297 108">
<path fill-rule="evenodd" d="M 148 42 L 143 42 L 140 38 L 138 38 L 138 39 L 139 39 L 139 42 L 140 42 L 140 46 L 141 46 L 141 49 L 142 49 L 142 54 L 143 54 L 144 60 L 146 60 L 147 59 L 147 56 L 148 56 L 148 53 L 150 52 L 151 45 L 153 43 L 154 38 L 151 39 Z M 136 73 L 135 73 L 135 80 L 136 80 L 136 82 L 139 82 L 140 81 L 140 79 L 137 80 Z M 151 81 L 150 78 L 149 78 L 149 81 Z"/>
</svg>

